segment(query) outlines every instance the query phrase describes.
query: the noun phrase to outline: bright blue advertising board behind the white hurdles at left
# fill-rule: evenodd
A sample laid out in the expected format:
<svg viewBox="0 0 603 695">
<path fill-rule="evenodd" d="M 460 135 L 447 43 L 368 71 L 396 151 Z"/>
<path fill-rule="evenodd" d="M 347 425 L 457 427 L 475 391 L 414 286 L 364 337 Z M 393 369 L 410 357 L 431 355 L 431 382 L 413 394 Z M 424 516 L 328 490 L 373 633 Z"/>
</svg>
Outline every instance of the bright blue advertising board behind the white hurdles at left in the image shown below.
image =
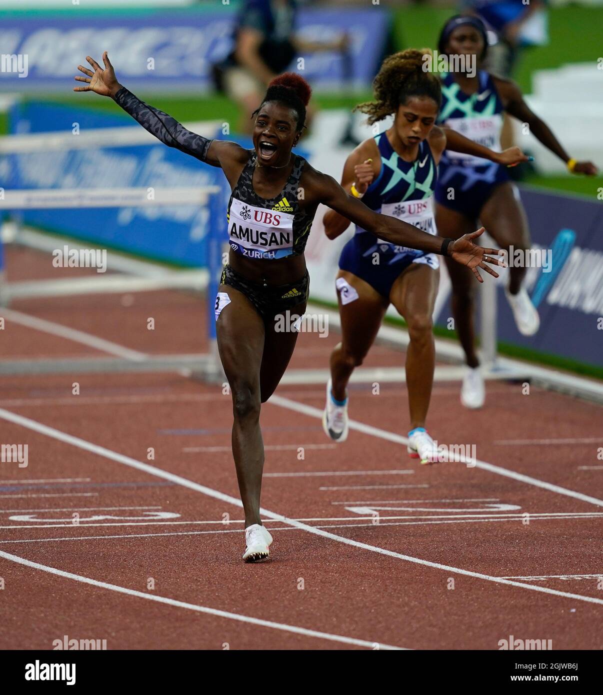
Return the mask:
<svg viewBox="0 0 603 695">
<path fill-rule="evenodd" d="M 123 126 L 124 122 L 133 122 L 127 115 L 118 117 L 35 101 L 17 106 L 16 109 L 10 119 L 13 131 L 65 131 L 73 122 L 78 122 L 83 130 L 100 124 Z M 140 126 L 134 124 L 132 129 L 140 129 Z M 157 145 L 67 149 L 60 152 L 0 156 L 2 188 L 86 189 L 101 186 L 119 189 L 138 186 L 202 187 L 216 184 L 226 187 L 224 175 L 219 169 L 160 142 Z M 222 213 L 224 209 L 222 206 Z M 28 209 L 20 213 L 21 220 L 34 227 L 191 267 L 207 263 L 205 240 L 209 216 L 209 206 L 198 204 Z M 222 216 L 225 224 L 226 217 L 224 214 Z M 222 222 L 213 220 L 213 224 Z"/>
</svg>

